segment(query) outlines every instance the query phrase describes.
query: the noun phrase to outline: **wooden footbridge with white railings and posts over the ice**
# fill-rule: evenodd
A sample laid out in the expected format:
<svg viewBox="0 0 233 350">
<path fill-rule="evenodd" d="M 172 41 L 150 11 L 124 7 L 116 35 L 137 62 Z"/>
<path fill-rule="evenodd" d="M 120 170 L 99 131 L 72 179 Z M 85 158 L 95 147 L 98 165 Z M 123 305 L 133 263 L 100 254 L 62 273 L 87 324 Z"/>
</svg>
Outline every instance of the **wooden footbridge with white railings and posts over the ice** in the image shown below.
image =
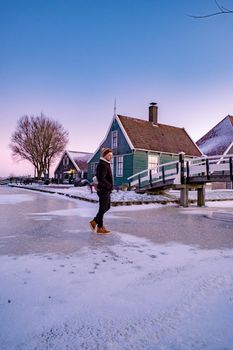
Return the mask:
<svg viewBox="0 0 233 350">
<path fill-rule="evenodd" d="M 197 205 L 205 205 L 207 182 L 233 182 L 233 154 L 185 159 L 146 169 L 128 178 L 130 187 L 138 192 L 172 188 L 180 190 L 180 205 L 188 206 L 189 190 L 197 190 Z"/>
</svg>

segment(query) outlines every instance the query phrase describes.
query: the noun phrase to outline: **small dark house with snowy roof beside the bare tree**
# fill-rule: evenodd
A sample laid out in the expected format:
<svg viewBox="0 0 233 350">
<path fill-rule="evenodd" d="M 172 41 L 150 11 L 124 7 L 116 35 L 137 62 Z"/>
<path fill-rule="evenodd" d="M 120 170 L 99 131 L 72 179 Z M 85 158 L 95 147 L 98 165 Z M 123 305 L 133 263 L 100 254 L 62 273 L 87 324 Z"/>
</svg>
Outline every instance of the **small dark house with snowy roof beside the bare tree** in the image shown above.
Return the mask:
<svg viewBox="0 0 233 350">
<path fill-rule="evenodd" d="M 77 178 L 87 178 L 88 159 L 92 153 L 65 151 L 54 171 L 58 183 L 72 183 Z"/>
</svg>

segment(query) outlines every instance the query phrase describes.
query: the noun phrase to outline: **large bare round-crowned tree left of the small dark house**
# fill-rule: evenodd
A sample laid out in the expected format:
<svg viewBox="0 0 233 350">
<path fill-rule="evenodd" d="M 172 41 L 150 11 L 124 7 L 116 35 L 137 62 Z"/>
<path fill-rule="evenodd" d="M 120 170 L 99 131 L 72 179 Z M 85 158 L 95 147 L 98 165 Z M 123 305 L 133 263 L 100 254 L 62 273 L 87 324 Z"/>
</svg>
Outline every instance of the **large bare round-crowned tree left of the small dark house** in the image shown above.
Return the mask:
<svg viewBox="0 0 233 350">
<path fill-rule="evenodd" d="M 64 151 L 68 132 L 57 121 L 45 115 L 19 119 L 16 131 L 11 136 L 10 148 L 16 159 L 28 160 L 36 169 L 37 177 L 49 176 L 50 166 Z"/>
</svg>

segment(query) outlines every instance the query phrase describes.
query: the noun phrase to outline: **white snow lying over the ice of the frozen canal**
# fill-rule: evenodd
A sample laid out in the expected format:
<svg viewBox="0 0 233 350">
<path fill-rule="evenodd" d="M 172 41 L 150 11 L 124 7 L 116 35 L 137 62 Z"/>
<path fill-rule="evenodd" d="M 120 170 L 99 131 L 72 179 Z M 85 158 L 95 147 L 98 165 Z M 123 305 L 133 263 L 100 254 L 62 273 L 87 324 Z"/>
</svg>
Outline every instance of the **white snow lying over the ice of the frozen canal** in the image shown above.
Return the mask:
<svg viewBox="0 0 233 350">
<path fill-rule="evenodd" d="M 14 211 L 34 200 L 30 192 L 17 191 L 0 192 L 0 209 L 12 206 Z M 97 208 L 76 202 L 77 210 L 27 216 L 35 223 L 46 219 L 48 225 L 58 216 L 75 216 L 78 223 Z M 123 211 L 127 217 L 145 208 L 146 215 L 147 209 L 161 207 L 115 207 L 109 215 Z M 225 208 L 231 215 L 233 201 L 208 202 L 208 213 Z M 183 212 L 201 217 L 205 208 Z M 222 221 L 219 234 L 230 232 L 231 225 L 232 220 Z M 69 234 L 81 237 L 83 230 L 77 224 Z M 0 256 L 1 350 L 232 349 L 233 249 L 155 244 L 120 231 L 86 235 L 90 244 L 72 253 Z M 4 239 L 2 233 L 0 245 Z"/>
</svg>

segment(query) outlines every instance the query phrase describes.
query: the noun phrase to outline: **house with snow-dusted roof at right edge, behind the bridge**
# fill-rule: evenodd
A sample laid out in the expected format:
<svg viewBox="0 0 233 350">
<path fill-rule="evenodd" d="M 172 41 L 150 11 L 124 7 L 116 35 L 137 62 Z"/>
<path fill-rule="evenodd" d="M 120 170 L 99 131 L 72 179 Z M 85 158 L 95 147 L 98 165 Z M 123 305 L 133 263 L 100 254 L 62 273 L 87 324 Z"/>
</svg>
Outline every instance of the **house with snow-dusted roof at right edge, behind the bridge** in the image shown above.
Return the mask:
<svg viewBox="0 0 233 350">
<path fill-rule="evenodd" d="M 197 141 L 206 156 L 233 154 L 233 116 L 228 115 Z M 216 183 L 216 188 L 232 188 L 232 183 Z"/>
</svg>

